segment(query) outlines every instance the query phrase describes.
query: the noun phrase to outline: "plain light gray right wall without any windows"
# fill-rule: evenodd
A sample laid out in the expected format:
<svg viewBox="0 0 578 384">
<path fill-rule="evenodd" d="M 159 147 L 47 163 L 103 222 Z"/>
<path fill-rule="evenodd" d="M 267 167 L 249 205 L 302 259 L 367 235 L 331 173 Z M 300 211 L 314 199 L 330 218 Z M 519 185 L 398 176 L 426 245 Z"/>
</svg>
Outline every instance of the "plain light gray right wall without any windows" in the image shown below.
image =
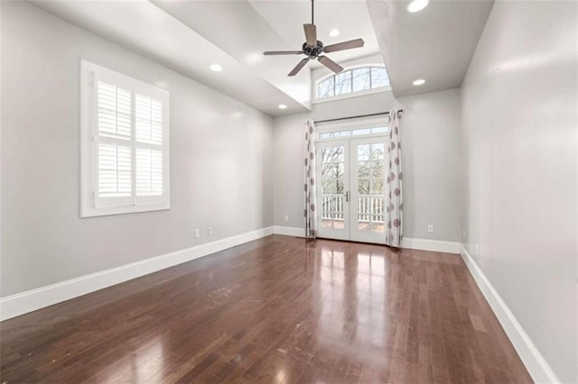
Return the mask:
<svg viewBox="0 0 578 384">
<path fill-rule="evenodd" d="M 497 2 L 462 86 L 464 242 L 576 382 L 576 2 Z"/>
</svg>

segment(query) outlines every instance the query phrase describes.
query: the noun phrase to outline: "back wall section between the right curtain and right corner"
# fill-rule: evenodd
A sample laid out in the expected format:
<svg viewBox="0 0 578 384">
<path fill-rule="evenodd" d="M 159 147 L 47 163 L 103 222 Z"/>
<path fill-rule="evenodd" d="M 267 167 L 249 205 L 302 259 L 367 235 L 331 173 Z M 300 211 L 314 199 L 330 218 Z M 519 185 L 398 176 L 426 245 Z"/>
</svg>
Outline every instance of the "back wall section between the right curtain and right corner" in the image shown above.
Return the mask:
<svg viewBox="0 0 578 384">
<path fill-rule="evenodd" d="M 397 101 L 405 110 L 404 236 L 460 242 L 460 89 Z"/>
</svg>

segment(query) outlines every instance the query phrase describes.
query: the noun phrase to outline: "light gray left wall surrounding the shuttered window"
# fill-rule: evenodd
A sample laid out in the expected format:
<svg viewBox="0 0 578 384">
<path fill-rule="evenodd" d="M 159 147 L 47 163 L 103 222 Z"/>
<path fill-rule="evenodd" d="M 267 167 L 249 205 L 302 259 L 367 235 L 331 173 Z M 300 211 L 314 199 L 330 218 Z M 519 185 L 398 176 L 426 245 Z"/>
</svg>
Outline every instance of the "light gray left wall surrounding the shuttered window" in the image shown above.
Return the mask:
<svg viewBox="0 0 578 384">
<path fill-rule="evenodd" d="M 80 58 L 170 91 L 171 210 L 79 218 Z M 237 100 L 25 3 L 1 92 L 2 297 L 272 224 L 272 120 Z"/>
</svg>

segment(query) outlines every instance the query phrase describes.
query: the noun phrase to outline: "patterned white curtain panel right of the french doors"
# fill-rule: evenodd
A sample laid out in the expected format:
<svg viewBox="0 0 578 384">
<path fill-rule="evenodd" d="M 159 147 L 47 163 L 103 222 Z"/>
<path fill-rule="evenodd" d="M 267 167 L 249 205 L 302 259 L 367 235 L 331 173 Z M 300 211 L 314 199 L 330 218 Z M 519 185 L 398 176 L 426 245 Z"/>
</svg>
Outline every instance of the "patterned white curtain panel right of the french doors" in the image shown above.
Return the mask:
<svg viewBox="0 0 578 384">
<path fill-rule="evenodd" d="M 402 194 L 401 141 L 399 137 L 399 111 L 389 111 L 389 147 L 387 168 L 387 245 L 401 247 L 403 234 L 404 201 Z"/>
</svg>

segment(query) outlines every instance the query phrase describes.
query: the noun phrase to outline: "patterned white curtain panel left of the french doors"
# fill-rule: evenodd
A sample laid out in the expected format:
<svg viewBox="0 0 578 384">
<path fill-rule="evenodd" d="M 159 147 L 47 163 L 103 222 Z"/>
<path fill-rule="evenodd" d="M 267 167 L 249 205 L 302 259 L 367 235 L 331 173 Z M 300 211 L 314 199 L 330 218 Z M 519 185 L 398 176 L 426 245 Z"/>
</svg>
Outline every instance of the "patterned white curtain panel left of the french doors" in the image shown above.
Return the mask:
<svg viewBox="0 0 578 384">
<path fill-rule="evenodd" d="M 315 124 L 305 123 L 305 237 L 317 236 L 315 217 Z"/>
</svg>

